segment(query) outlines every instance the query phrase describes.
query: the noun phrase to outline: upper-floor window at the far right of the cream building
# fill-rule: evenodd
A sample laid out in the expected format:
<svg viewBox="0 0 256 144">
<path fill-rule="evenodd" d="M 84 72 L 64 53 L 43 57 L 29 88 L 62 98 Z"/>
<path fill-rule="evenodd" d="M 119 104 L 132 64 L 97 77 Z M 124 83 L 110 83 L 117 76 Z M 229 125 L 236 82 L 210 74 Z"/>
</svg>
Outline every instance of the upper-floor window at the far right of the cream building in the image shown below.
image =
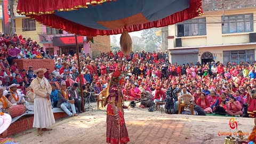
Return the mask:
<svg viewBox="0 0 256 144">
<path fill-rule="evenodd" d="M 250 31 L 253 31 L 253 14 L 225 16 L 224 25 L 222 26 L 222 34 L 243 33 Z"/>
</svg>

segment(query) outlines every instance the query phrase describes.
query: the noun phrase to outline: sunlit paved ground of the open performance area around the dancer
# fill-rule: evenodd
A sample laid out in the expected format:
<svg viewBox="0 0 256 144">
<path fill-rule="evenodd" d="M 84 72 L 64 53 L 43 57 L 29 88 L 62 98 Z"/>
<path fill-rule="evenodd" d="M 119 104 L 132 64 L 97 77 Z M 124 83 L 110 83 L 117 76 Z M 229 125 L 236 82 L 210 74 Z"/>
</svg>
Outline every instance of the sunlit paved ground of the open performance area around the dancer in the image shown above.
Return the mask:
<svg viewBox="0 0 256 144">
<path fill-rule="evenodd" d="M 95 104 L 94 104 L 95 105 Z M 95 108 L 95 106 L 94 106 Z M 167 115 L 146 109 L 125 110 L 129 143 L 223 143 L 219 131 L 230 131 L 228 117 Z M 237 118 L 243 132 L 251 132 L 252 118 Z M 36 129 L 14 135 L 20 143 L 106 143 L 106 112 L 90 110 L 55 123 L 43 136 Z"/>
</svg>

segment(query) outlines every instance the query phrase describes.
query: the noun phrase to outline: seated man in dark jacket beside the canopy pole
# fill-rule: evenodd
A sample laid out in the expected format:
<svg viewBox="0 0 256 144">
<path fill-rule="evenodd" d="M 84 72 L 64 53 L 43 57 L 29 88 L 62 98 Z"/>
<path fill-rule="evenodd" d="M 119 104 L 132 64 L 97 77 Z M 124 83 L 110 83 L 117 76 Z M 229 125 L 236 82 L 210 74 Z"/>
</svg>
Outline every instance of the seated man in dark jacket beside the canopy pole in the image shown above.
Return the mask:
<svg viewBox="0 0 256 144">
<path fill-rule="evenodd" d="M 78 84 L 74 83 L 72 85 L 72 87 L 69 88 L 69 93 L 71 95 L 71 99 L 75 100 L 75 106 L 78 109 L 77 113 L 82 113 L 82 111 L 81 111 L 81 102 L 82 101 L 81 101 L 81 97 L 78 95 L 77 87 L 78 87 Z"/>
</svg>

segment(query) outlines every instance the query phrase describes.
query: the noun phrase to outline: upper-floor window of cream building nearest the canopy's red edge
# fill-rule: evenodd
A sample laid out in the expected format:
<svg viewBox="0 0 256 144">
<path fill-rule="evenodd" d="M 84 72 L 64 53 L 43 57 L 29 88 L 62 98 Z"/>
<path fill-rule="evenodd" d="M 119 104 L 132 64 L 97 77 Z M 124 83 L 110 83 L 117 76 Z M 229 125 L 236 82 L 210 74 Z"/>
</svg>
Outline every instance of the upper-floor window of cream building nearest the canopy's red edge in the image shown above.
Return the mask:
<svg viewBox="0 0 256 144">
<path fill-rule="evenodd" d="M 178 37 L 206 35 L 206 19 L 187 20 L 177 25 Z"/>
</svg>

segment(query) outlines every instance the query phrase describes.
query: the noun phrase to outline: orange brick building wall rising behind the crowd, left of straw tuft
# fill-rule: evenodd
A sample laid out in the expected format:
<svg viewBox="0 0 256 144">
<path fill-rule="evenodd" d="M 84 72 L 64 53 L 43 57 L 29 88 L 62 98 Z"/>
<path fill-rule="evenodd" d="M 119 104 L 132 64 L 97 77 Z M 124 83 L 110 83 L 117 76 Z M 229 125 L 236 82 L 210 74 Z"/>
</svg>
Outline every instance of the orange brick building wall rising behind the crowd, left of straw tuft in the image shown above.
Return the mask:
<svg viewBox="0 0 256 144">
<path fill-rule="evenodd" d="M 109 52 L 110 51 L 110 36 L 96 36 L 93 37 L 91 44 L 91 51 Z"/>
</svg>

